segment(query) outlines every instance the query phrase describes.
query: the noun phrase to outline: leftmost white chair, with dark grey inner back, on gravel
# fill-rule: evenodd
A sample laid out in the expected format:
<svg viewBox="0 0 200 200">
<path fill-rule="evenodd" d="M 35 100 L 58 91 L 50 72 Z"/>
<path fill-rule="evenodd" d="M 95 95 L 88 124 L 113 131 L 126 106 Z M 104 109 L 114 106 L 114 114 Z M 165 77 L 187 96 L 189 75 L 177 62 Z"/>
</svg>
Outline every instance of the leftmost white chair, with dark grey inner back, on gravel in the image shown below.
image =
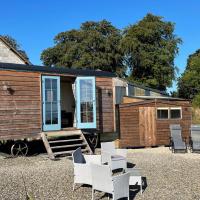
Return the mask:
<svg viewBox="0 0 200 200">
<path fill-rule="evenodd" d="M 91 177 L 91 163 L 101 164 L 100 155 L 83 155 L 81 148 L 79 147 L 72 153 L 73 165 L 74 165 L 74 184 L 73 191 L 75 189 L 75 184 L 88 184 L 92 185 Z"/>
</svg>

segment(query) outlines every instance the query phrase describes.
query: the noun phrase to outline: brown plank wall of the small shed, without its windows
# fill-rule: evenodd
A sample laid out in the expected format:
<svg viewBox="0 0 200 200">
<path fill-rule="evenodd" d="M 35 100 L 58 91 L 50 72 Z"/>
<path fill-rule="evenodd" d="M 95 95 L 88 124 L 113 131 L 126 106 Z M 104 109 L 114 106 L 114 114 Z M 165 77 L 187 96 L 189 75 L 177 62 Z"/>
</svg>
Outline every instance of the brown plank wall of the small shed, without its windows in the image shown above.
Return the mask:
<svg viewBox="0 0 200 200">
<path fill-rule="evenodd" d="M 159 120 L 156 117 L 157 107 L 181 107 L 182 119 Z M 119 113 L 122 147 L 169 145 L 170 124 L 180 124 L 183 137 L 188 138 L 190 135 L 192 109 L 188 101 L 159 100 L 149 103 L 144 101 L 143 104 L 141 102 L 121 104 Z"/>
</svg>

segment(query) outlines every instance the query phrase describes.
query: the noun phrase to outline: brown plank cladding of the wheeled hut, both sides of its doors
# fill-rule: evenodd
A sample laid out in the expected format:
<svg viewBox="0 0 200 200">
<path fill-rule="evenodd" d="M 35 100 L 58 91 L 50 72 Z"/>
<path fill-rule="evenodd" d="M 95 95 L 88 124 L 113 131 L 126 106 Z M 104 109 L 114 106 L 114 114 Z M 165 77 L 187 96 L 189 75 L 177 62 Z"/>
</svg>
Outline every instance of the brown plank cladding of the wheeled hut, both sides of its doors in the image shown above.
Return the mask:
<svg viewBox="0 0 200 200">
<path fill-rule="evenodd" d="M 0 71 L 0 140 L 38 137 L 42 130 L 41 75 Z M 114 132 L 112 78 L 96 77 L 96 100 L 97 130 Z"/>
</svg>

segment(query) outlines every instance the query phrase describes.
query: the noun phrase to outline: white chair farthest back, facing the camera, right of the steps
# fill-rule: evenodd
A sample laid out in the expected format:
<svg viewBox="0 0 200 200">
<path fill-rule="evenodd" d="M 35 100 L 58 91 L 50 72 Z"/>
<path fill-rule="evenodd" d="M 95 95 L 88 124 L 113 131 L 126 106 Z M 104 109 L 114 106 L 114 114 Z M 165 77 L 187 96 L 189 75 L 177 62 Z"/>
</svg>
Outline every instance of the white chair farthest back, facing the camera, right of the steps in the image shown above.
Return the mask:
<svg viewBox="0 0 200 200">
<path fill-rule="evenodd" d="M 112 170 L 127 168 L 127 149 L 115 149 L 114 142 L 101 143 L 101 162 L 108 164 Z"/>
</svg>

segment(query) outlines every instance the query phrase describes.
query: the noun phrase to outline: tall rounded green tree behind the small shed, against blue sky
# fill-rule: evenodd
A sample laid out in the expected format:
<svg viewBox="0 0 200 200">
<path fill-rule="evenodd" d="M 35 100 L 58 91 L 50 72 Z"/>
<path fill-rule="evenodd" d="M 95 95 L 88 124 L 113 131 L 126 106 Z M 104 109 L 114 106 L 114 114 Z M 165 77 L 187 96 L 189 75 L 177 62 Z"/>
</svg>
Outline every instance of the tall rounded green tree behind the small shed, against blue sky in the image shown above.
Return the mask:
<svg viewBox="0 0 200 200">
<path fill-rule="evenodd" d="M 166 90 L 176 77 L 174 58 L 180 43 L 181 39 L 174 34 L 174 24 L 152 14 L 126 28 L 121 48 L 129 80 Z"/>
</svg>

